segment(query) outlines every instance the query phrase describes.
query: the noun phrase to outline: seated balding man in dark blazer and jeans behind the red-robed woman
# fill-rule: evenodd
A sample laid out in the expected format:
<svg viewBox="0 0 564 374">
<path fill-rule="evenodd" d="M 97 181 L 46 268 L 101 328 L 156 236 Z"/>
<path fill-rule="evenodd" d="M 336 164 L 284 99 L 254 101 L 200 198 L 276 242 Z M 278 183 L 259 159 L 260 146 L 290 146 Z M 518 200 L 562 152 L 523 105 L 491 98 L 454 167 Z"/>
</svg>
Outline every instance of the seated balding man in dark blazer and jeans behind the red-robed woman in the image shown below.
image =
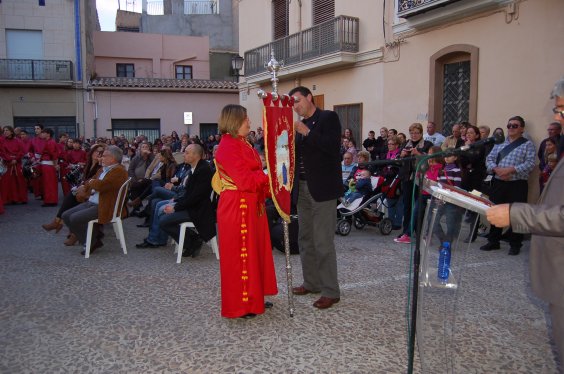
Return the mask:
<svg viewBox="0 0 564 374">
<path fill-rule="evenodd" d="M 215 215 L 210 201 L 212 171 L 202 159 L 204 149 L 199 144 L 190 144 L 184 152 L 184 161 L 191 165 L 191 176 L 186 187 L 171 200 L 157 203 L 151 221 L 149 236 L 137 248 L 156 248 L 166 245 L 168 235 L 178 241 L 179 226 L 186 221 L 194 222 L 199 235 L 205 241 L 216 235 Z M 187 233 L 183 252 L 196 257 L 202 241 L 195 232 Z"/>
</svg>

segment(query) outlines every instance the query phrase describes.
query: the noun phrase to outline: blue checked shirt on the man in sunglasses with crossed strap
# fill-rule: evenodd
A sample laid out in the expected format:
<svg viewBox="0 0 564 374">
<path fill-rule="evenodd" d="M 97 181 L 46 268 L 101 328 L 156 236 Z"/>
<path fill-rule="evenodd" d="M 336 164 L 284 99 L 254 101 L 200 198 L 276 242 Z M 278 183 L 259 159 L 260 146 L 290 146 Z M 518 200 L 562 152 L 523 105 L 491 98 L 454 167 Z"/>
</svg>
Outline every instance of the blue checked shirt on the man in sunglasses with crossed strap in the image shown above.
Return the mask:
<svg viewBox="0 0 564 374">
<path fill-rule="evenodd" d="M 529 174 L 535 168 L 535 145 L 530 140 L 521 144 L 519 147 L 513 149 L 507 156 L 505 156 L 499 164 L 497 163 L 497 155 L 501 150 L 509 145 L 509 138 L 505 142 L 496 144 L 492 151 L 486 157 L 486 166 L 488 173 L 494 173 L 493 169 L 496 167 L 508 168 L 514 167 L 515 174 L 511 175 L 511 181 L 528 180 Z M 495 178 L 499 179 L 497 175 Z"/>
</svg>

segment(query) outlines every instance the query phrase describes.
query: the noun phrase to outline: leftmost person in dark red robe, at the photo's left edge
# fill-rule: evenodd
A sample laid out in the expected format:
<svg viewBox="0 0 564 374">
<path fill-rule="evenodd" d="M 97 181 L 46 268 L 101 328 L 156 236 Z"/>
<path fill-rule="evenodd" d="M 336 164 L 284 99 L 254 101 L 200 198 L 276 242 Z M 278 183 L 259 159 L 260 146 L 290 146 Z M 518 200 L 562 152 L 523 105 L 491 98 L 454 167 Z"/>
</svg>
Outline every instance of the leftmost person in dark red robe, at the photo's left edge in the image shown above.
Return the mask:
<svg viewBox="0 0 564 374">
<path fill-rule="evenodd" d="M 0 181 L 0 189 L 5 204 L 27 203 L 27 181 L 22 170 L 24 154 L 24 145 L 20 139 L 15 137 L 14 128 L 5 126 L 4 141 L 0 146 L 0 157 L 8 168 Z"/>
</svg>

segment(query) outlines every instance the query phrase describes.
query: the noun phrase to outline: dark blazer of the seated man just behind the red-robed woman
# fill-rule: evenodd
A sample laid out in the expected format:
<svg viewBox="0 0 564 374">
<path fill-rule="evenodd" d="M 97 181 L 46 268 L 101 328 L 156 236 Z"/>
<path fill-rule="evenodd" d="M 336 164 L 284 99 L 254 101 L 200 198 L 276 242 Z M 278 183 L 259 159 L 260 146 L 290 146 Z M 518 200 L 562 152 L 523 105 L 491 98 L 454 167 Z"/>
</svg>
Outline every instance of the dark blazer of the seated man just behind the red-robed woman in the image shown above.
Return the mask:
<svg viewBox="0 0 564 374">
<path fill-rule="evenodd" d="M 212 176 L 209 163 L 205 160 L 198 161 L 186 182 L 186 188 L 174 199 L 174 211 L 188 211 L 196 230 L 205 241 L 216 235 L 215 213 L 210 200 Z"/>
</svg>

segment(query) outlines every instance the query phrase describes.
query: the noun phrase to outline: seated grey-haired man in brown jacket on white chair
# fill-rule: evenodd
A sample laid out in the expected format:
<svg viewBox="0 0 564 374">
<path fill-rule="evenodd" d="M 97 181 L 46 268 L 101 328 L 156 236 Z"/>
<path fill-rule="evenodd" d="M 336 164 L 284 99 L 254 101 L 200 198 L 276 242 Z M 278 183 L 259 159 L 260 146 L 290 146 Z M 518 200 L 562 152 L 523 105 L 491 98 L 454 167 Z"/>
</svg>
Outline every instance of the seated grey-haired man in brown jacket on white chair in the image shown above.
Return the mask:
<svg viewBox="0 0 564 374">
<path fill-rule="evenodd" d="M 123 152 L 120 148 L 113 145 L 106 148 L 102 155 L 102 168 L 92 179 L 85 181 L 77 192 L 77 195 L 86 193 L 90 197 L 84 203 L 65 211 L 62 215 L 70 232 L 81 244 L 86 243 L 88 221 L 98 219 L 98 224 L 94 225 L 92 234 L 94 240 L 92 240 L 90 253 L 94 253 L 96 249 L 104 245 L 100 240 L 102 236 L 100 226 L 111 221 L 119 189 L 127 180 L 127 170 L 121 165 L 122 156 Z M 122 209 L 123 217 L 126 215 L 126 210 L 125 207 Z"/>
</svg>

